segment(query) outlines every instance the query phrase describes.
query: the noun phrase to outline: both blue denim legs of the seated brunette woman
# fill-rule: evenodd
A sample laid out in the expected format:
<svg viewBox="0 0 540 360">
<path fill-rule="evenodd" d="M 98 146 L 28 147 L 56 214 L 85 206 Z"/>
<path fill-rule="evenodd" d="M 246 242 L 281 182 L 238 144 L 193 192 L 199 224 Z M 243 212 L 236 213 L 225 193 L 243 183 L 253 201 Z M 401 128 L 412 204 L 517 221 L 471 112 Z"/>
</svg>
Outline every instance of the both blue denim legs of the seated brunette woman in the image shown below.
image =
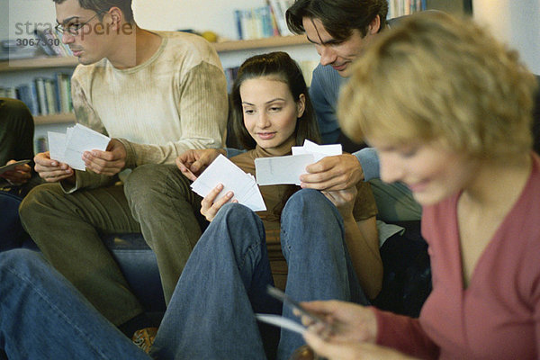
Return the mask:
<svg viewBox="0 0 540 360">
<path fill-rule="evenodd" d="M 300 301 L 367 303 L 347 254 L 343 220 L 320 192 L 295 193 L 282 213 L 285 293 Z M 176 285 L 152 347 L 155 358 L 264 359 L 254 312 L 279 313 L 266 295 L 272 284 L 265 229 L 257 214 L 229 203 L 202 234 Z M 289 309 L 284 315 L 293 317 Z M 303 344 L 282 331 L 278 359 Z"/>
</svg>

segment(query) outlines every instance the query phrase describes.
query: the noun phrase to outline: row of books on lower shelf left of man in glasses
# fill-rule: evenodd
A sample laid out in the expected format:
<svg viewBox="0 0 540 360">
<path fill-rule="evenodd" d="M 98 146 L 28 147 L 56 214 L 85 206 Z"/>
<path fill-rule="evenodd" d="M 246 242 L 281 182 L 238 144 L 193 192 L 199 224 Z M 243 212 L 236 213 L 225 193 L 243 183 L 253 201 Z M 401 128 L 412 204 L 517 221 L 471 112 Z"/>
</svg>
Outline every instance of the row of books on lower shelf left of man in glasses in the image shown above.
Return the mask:
<svg viewBox="0 0 540 360">
<path fill-rule="evenodd" d="M 0 87 L 0 97 L 21 100 L 34 116 L 72 112 L 70 78 L 64 73 L 54 78 L 36 77 L 30 84 Z"/>
</svg>

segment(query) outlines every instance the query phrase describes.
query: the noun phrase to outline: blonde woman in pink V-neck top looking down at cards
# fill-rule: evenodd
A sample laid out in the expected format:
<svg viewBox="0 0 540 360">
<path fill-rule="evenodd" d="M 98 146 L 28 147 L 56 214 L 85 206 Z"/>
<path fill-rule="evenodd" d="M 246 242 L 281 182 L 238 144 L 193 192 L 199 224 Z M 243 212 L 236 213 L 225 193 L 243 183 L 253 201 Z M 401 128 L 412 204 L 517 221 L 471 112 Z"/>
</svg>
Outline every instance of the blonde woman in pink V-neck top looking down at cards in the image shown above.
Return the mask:
<svg viewBox="0 0 540 360">
<path fill-rule="evenodd" d="M 305 338 L 316 353 L 540 358 L 535 88 L 517 52 L 470 19 L 414 15 L 366 49 L 339 118 L 351 137 L 377 149 L 382 179 L 404 182 L 423 205 L 433 291 L 418 320 L 347 302 L 305 303 L 335 329 L 322 338 L 325 327 L 311 324 Z"/>
</svg>

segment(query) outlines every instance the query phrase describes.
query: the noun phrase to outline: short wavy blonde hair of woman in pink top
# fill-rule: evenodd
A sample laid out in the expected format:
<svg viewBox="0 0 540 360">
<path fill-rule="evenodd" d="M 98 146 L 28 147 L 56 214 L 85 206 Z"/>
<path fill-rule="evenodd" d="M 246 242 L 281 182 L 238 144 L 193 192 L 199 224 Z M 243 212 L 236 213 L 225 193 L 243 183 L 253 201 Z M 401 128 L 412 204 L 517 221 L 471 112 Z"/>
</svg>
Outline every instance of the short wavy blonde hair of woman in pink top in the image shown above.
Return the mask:
<svg viewBox="0 0 540 360">
<path fill-rule="evenodd" d="M 410 16 L 358 58 L 338 119 L 351 139 L 442 140 L 472 157 L 530 151 L 536 78 L 489 31 L 444 13 Z"/>
</svg>

